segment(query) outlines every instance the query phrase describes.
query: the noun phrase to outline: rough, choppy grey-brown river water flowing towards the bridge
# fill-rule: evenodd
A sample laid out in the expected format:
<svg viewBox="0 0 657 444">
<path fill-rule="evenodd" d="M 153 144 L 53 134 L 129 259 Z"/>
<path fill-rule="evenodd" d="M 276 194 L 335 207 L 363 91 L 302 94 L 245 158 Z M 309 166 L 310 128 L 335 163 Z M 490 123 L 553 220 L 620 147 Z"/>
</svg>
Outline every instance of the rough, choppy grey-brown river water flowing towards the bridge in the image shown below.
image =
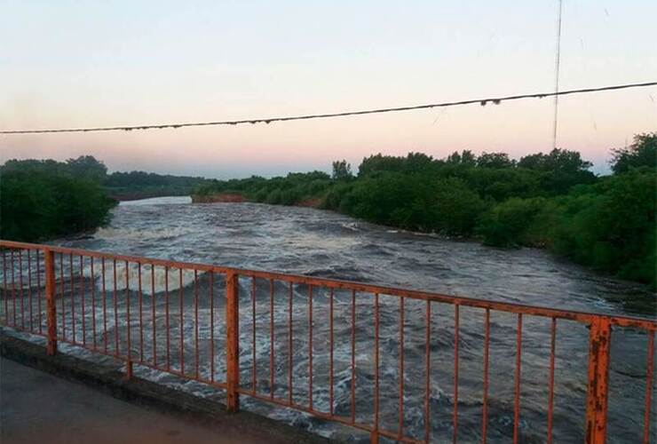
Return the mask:
<svg viewBox="0 0 657 444">
<path fill-rule="evenodd" d="M 645 287 L 594 274 L 542 250 L 496 250 L 476 242 L 456 242 L 392 230 L 309 208 L 255 203 L 192 204 L 189 198 L 123 202 L 115 209 L 110 226 L 89 237 L 57 243 L 89 250 L 374 282 L 529 305 L 654 316 L 655 295 Z M 175 281 L 171 283 L 178 285 Z M 183 281 L 184 286 L 189 283 Z M 248 289 L 244 293 L 248 294 Z M 359 408 L 371 412 L 372 297 L 361 298 L 357 380 L 370 386 L 359 387 L 357 395 Z M 395 310 L 399 303 L 392 297 L 388 299 L 382 297 L 382 305 L 388 310 L 382 312 L 381 318 L 381 408 L 382 423 L 396 430 L 399 317 Z M 408 301 L 406 307 L 405 384 L 408 388 L 404 410 L 407 433 L 422 438 L 424 305 L 415 302 Z M 295 310 L 303 310 L 307 299 L 295 304 Z M 336 319 L 342 320 L 336 323 L 338 338 L 348 338 L 350 328 L 344 321 L 348 310 L 347 300 L 338 296 Z M 435 312 L 431 333 L 431 427 L 433 440 L 443 441 L 451 439 L 454 403 L 454 307 L 437 305 L 432 310 Z M 285 334 L 285 316 L 284 307 L 281 307 L 280 313 L 276 313 L 277 337 L 279 323 L 281 335 Z M 279 318 L 283 321 L 279 322 Z M 478 440 L 480 430 L 482 320 L 481 310 L 462 308 L 458 410 L 459 438 L 463 442 Z M 547 422 L 550 321 L 531 317 L 524 321 L 520 432 L 524 442 L 543 442 Z M 318 330 L 326 329 L 325 316 L 315 322 Z M 303 337 L 304 331 L 298 334 Z M 640 440 L 646 342 L 641 332 L 614 331 L 609 442 Z M 351 349 L 346 339 L 344 344 L 338 339 L 337 344 L 336 412 L 348 416 L 351 374 L 345 363 L 351 359 Z M 555 442 L 582 442 L 587 347 L 588 330 L 584 326 L 559 322 Z M 257 353 L 257 359 L 268 361 L 267 347 L 258 348 Z M 307 349 L 298 353 L 298 361 L 303 361 Z M 326 353 L 318 354 L 313 366 L 317 377 L 321 378 L 328 372 L 328 361 Z M 515 316 L 493 314 L 488 394 L 490 442 L 508 442 L 511 437 L 515 356 Z M 297 356 L 295 358 L 297 362 Z M 276 377 L 284 379 L 285 375 L 287 369 L 277 367 Z M 263 377 L 266 379 L 266 375 Z M 316 407 L 326 408 L 327 393 L 318 390 Z M 316 422 L 288 410 L 279 409 L 273 416 L 323 434 L 336 431 L 331 424 Z"/>
</svg>

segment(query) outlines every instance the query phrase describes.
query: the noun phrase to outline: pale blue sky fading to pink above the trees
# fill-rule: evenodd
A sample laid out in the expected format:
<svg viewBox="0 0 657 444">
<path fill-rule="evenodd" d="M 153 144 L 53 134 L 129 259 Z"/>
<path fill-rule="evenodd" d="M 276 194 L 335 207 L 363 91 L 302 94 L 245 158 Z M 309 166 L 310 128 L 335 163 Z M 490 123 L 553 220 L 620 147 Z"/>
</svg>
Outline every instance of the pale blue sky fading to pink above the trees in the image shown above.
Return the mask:
<svg viewBox="0 0 657 444">
<path fill-rule="evenodd" d="M 0 0 L 0 129 L 232 120 L 553 91 L 557 0 Z M 654 0 L 564 0 L 561 90 L 657 81 Z M 330 120 L 0 135 L 0 161 L 241 178 L 367 155 L 552 147 L 553 99 Z M 559 99 L 558 147 L 609 170 L 657 87 Z"/>
</svg>

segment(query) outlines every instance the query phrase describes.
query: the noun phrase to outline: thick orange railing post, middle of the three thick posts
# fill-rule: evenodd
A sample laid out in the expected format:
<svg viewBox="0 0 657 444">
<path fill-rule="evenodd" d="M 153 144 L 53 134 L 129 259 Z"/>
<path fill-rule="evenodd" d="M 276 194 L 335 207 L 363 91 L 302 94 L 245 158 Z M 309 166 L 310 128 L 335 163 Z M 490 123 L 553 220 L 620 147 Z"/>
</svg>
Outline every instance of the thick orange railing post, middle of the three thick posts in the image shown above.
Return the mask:
<svg viewBox="0 0 657 444">
<path fill-rule="evenodd" d="M 239 277 L 226 274 L 226 408 L 229 412 L 240 409 L 240 305 Z"/>
</svg>

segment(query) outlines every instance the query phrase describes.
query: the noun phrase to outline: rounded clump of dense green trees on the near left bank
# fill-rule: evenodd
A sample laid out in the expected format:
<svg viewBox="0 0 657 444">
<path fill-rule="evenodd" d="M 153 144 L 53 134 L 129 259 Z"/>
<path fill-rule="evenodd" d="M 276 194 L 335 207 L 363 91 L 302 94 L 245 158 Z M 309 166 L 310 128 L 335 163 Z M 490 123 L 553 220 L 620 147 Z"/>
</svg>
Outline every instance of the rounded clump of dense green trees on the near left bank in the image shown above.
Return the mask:
<svg viewBox="0 0 657 444">
<path fill-rule="evenodd" d="M 91 156 L 0 167 L 0 237 L 35 242 L 107 224 L 115 201 L 101 186 L 107 169 Z"/>
</svg>

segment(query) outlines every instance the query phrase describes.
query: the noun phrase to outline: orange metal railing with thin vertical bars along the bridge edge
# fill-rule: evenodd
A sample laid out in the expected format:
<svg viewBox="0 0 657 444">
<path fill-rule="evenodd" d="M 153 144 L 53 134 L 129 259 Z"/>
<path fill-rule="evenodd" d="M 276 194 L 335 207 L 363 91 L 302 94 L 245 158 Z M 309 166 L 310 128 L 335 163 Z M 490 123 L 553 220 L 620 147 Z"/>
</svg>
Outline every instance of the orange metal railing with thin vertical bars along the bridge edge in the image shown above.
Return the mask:
<svg viewBox="0 0 657 444">
<path fill-rule="evenodd" d="M 379 437 L 400 442 L 430 442 L 434 439 L 431 431 L 434 416 L 431 409 L 431 353 L 436 342 L 432 330 L 436 327 L 432 321 L 431 309 L 435 305 L 448 305 L 453 310 L 450 316 L 454 322 L 451 358 L 451 439 L 454 442 L 459 437 L 462 309 L 477 309 L 484 315 L 480 424 L 480 440 L 484 443 L 487 441 L 489 427 L 492 313 L 515 316 L 513 442 L 521 440 L 521 356 L 523 328 L 527 320 L 545 319 L 550 326 L 550 353 L 546 369 L 547 442 L 552 441 L 555 420 L 558 322 L 574 321 L 590 328 L 586 411 L 582 411 L 582 415 L 585 415 L 582 436 L 587 443 L 606 441 L 613 327 L 635 329 L 647 337 L 642 436 L 644 442 L 650 440 L 654 332 L 657 329 L 654 320 L 555 310 L 358 282 L 139 258 L 51 245 L 0 241 L 0 249 L 3 259 L 0 322 L 12 329 L 45 337 L 49 354 L 57 353 L 58 342 L 78 345 L 94 353 L 125 361 L 127 377 L 132 376 L 133 365 L 137 364 L 224 389 L 226 405 L 230 411 L 240 408 L 240 395 L 248 395 L 368 432 L 373 442 L 377 442 Z M 258 300 L 257 289 L 268 297 L 259 297 Z M 305 297 L 304 305 L 295 305 L 295 299 L 299 297 Z M 191 306 L 186 306 L 186 300 L 191 301 Z M 370 300 L 371 305 L 368 306 Z M 313 301 L 320 306 L 313 309 Z M 260 313 L 257 312 L 258 305 Z M 336 305 L 340 306 L 339 319 L 336 319 Z M 299 314 L 300 310 L 306 308 L 306 313 Z M 362 321 L 361 313 L 359 324 L 360 312 L 365 313 L 366 321 Z M 382 334 L 382 315 L 390 319 L 392 312 L 398 316 L 394 321 L 397 332 Z M 284 313 L 285 321 L 275 320 L 274 313 Z M 371 330 L 364 329 L 357 334 L 362 324 L 370 321 L 370 317 L 373 322 Z M 281 322 L 284 325 L 281 326 Z M 344 349 L 351 355 L 350 360 L 342 363 L 342 371 L 349 375 L 349 387 L 346 390 L 347 399 L 342 400 L 343 408 L 340 411 L 336 408 L 338 403 L 335 390 L 336 322 L 346 325 L 340 329 L 343 337 L 338 345 L 346 344 Z M 327 334 L 321 336 L 321 327 L 327 323 Z M 388 340 L 391 335 L 396 336 L 395 340 L 399 342 L 396 350 L 399 355 L 396 360 L 398 385 L 396 390 L 384 388 L 382 394 L 381 361 L 388 356 L 380 353 L 381 342 L 382 336 Z M 371 355 L 363 360 L 357 357 L 356 350 L 370 337 L 374 347 Z M 258 369 L 257 345 L 263 345 L 264 342 L 265 355 L 269 358 L 264 366 L 268 368 L 268 380 L 260 378 L 258 381 L 262 367 Z M 294 362 L 294 352 L 300 347 L 307 349 L 307 378 L 299 378 L 294 370 L 299 364 Z M 422 352 L 418 354 L 418 350 Z M 414 372 L 421 371 L 421 381 L 408 381 L 405 377 L 409 371 L 405 361 L 407 353 L 421 356 L 416 359 L 422 359 L 422 369 L 413 369 Z M 321 360 L 326 365 L 313 365 L 313 359 Z M 249 366 L 241 365 L 241 362 L 249 362 Z M 371 381 L 367 378 L 358 380 L 357 369 L 361 367 L 371 369 Z M 279 369 L 287 369 L 287 375 L 281 378 L 284 371 Z M 301 382 L 305 386 L 301 386 Z M 417 387 L 410 387 L 412 383 L 417 383 Z M 265 385 L 266 390 L 261 388 L 262 385 Z M 362 385 L 367 385 L 367 391 L 372 395 L 373 405 L 371 409 L 368 408 L 368 415 L 361 415 L 357 407 L 357 392 L 366 390 Z M 325 408 L 318 405 L 315 398 L 315 393 L 321 390 L 328 392 L 328 407 L 322 404 Z M 423 432 L 419 434 L 409 433 L 406 424 L 405 394 L 411 390 L 415 390 L 413 396 L 417 399 L 420 397 L 418 393 L 423 392 Z M 386 405 L 391 405 L 391 402 L 396 404 L 396 430 L 391 430 L 389 418 L 384 424 L 381 417 L 382 402 Z"/>
</svg>

